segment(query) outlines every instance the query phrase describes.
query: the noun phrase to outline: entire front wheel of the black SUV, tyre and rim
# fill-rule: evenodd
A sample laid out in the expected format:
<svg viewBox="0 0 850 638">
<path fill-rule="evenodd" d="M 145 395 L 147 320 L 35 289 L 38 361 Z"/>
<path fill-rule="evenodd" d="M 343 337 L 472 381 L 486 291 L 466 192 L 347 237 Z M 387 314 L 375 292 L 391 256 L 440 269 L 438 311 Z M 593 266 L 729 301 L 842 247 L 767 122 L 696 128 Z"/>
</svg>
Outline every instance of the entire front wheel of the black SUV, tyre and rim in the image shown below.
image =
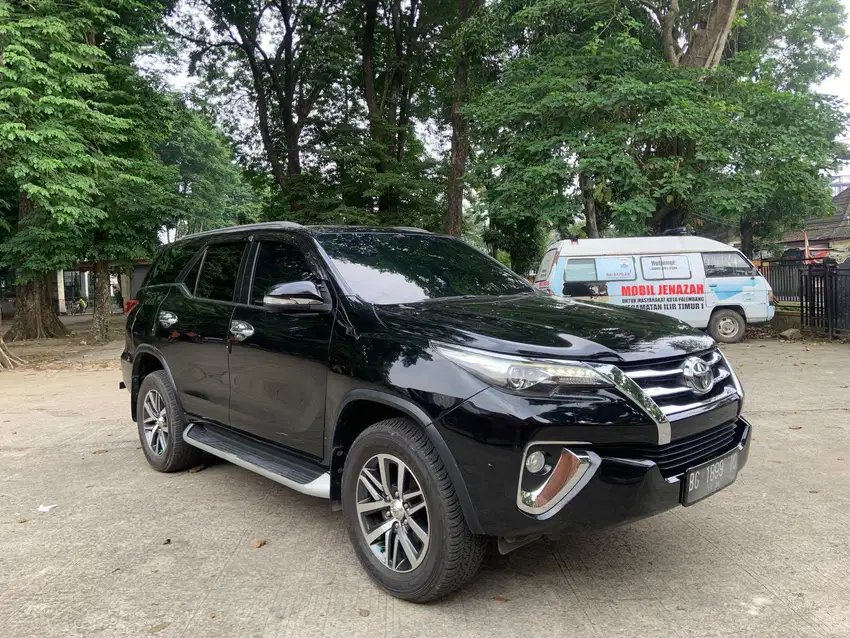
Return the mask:
<svg viewBox="0 0 850 638">
<path fill-rule="evenodd" d="M 486 538 L 466 525 L 437 451 L 410 420 L 381 421 L 351 446 L 342 509 L 363 568 L 397 598 L 430 602 L 475 576 Z"/>
</svg>

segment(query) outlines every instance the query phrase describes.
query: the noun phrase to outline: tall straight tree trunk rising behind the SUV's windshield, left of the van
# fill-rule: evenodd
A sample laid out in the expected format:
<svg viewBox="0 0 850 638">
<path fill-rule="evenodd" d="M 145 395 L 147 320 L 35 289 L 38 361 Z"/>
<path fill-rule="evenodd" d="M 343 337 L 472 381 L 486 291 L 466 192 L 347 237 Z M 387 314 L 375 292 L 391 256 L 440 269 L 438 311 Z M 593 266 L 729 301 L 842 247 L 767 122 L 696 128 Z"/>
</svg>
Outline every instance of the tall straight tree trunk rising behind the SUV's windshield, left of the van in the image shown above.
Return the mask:
<svg viewBox="0 0 850 638">
<path fill-rule="evenodd" d="M 463 25 L 481 0 L 458 0 L 460 23 Z M 452 165 L 449 173 L 448 208 L 443 229 L 447 235 L 460 237 L 463 231 L 463 180 L 469 158 L 469 118 L 462 112 L 469 99 L 469 57 L 461 44 L 455 62 L 452 92 Z"/>
</svg>

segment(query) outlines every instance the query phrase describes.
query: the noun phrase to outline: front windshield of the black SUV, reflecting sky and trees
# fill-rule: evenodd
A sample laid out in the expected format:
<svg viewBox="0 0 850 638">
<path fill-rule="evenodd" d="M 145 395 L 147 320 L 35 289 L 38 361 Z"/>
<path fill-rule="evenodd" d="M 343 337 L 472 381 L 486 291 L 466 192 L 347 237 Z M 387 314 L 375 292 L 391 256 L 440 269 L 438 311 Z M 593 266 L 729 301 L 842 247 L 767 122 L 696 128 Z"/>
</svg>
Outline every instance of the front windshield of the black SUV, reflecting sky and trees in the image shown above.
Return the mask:
<svg viewBox="0 0 850 638">
<path fill-rule="evenodd" d="M 317 239 L 354 294 L 369 303 L 533 293 L 522 277 L 450 237 L 340 232 Z"/>
</svg>

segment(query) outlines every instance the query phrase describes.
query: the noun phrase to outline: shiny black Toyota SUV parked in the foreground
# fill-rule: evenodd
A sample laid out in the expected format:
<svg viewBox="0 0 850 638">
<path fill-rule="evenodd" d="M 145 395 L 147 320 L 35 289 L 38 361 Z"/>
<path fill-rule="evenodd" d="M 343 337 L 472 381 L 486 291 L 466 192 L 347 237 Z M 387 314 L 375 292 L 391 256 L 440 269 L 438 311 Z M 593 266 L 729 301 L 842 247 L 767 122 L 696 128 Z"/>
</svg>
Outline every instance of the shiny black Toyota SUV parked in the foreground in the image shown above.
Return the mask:
<svg viewBox="0 0 850 638">
<path fill-rule="evenodd" d="M 467 244 L 286 222 L 164 248 L 130 301 L 124 383 L 148 462 L 205 451 L 341 507 L 407 600 L 506 553 L 690 505 L 747 460 L 710 337 L 535 292 Z"/>
</svg>

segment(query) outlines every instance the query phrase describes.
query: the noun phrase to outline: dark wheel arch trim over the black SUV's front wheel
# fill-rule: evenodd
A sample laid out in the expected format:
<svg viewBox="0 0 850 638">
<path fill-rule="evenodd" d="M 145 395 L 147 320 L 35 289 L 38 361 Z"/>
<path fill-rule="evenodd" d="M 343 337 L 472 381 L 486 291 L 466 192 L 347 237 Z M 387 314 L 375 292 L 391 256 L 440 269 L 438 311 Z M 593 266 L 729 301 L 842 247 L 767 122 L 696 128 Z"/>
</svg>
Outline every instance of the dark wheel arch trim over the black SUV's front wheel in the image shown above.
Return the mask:
<svg viewBox="0 0 850 638">
<path fill-rule="evenodd" d="M 422 428 L 436 448 L 440 460 L 449 473 L 463 509 L 466 524 L 473 534 L 481 534 L 481 524 L 478 522 L 472 498 L 466 488 L 466 482 L 463 480 L 454 455 L 434 425 L 434 420 L 413 401 L 379 390 L 352 390 L 343 397 L 339 404 L 336 418 L 333 421 L 333 432 L 329 437 L 331 501 L 335 503 L 341 501 L 342 468 L 348 449 L 354 439 L 370 425 L 393 417 L 407 417 Z"/>
</svg>

